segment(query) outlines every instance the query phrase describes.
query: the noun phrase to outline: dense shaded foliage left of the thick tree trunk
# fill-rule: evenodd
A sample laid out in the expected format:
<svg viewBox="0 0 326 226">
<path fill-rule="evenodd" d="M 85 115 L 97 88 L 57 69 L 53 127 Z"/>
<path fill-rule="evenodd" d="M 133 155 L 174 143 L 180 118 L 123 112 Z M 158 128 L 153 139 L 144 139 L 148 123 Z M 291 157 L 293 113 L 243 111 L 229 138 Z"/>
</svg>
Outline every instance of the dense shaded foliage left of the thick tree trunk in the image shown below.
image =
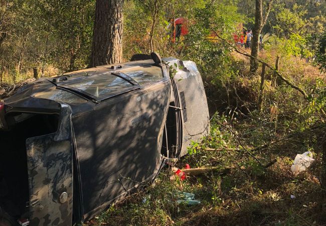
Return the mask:
<svg viewBox="0 0 326 226">
<path fill-rule="evenodd" d="M 0 68 L 12 81 L 33 67 L 52 75 L 51 68 L 69 71 L 88 65 L 95 1 L 4 2 L 8 35 L 0 42 Z M 9 76 L 3 80 L 11 81 Z"/>
</svg>

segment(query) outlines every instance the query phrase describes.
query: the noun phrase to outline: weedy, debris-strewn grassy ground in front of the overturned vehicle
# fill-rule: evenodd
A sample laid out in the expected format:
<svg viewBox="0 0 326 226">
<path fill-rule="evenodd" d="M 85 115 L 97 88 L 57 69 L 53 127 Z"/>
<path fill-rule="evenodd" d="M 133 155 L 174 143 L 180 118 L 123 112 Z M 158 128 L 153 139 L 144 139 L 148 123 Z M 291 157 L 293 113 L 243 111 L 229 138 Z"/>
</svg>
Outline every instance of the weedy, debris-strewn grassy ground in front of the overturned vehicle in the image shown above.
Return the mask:
<svg viewBox="0 0 326 226">
<path fill-rule="evenodd" d="M 112 205 L 89 225 L 323 225 L 321 189 L 318 181 L 320 156 L 306 172 L 293 176 L 292 159 L 297 153 L 318 149 L 318 138 L 325 127 L 316 126 L 302 133 L 278 138 L 272 145 L 253 149 L 256 138 L 240 139 L 236 134 L 260 133 L 272 129 L 243 120 L 231 125 L 229 119 L 215 116 L 211 135 L 190 150 L 177 166 L 218 166 L 218 172 L 188 176 L 171 181 L 169 168 L 162 171 L 154 186 L 147 187 L 124 201 Z M 222 126 L 223 125 L 223 126 Z M 227 127 L 227 128 L 226 128 Z M 268 144 L 268 139 L 260 144 Z M 270 143 L 270 142 L 269 142 Z M 212 149 L 208 149 L 212 148 Z M 208 149 L 208 150 L 207 150 Z M 214 150 L 216 149 L 216 150 Z M 257 158 L 257 161 L 252 156 Z M 271 161 L 276 163 L 269 167 Z M 270 164 L 269 164 L 270 163 Z M 260 166 L 260 164 L 262 166 Z M 201 204 L 177 204 L 177 191 L 194 193 Z M 294 195 L 295 198 L 291 198 Z"/>
</svg>

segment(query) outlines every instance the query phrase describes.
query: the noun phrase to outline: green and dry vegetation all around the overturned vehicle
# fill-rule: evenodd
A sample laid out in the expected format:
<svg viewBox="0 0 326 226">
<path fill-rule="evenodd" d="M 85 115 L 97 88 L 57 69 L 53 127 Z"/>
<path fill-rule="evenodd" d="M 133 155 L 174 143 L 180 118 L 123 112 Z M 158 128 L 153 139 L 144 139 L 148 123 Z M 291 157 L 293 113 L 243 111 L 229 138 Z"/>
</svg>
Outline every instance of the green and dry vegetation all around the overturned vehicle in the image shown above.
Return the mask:
<svg viewBox="0 0 326 226">
<path fill-rule="evenodd" d="M 94 0 L 0 3 L 0 83 L 32 77 L 33 68 L 51 76 L 90 65 Z M 189 34 L 173 43 L 168 25 L 179 17 L 189 20 Z M 87 224 L 326 224 L 326 3 L 274 0 L 259 68 L 250 74 L 250 50 L 230 40 L 239 24 L 252 29 L 254 17 L 255 1 L 248 0 L 125 1 L 125 61 L 153 49 L 193 60 L 202 73 L 211 134 L 194 141 L 177 166 L 218 170 L 171 181 L 167 168 L 155 185 Z M 271 67 L 262 84 L 263 64 Z M 293 175 L 294 157 L 306 151 L 315 161 Z M 180 190 L 201 204 L 178 204 Z"/>
</svg>

